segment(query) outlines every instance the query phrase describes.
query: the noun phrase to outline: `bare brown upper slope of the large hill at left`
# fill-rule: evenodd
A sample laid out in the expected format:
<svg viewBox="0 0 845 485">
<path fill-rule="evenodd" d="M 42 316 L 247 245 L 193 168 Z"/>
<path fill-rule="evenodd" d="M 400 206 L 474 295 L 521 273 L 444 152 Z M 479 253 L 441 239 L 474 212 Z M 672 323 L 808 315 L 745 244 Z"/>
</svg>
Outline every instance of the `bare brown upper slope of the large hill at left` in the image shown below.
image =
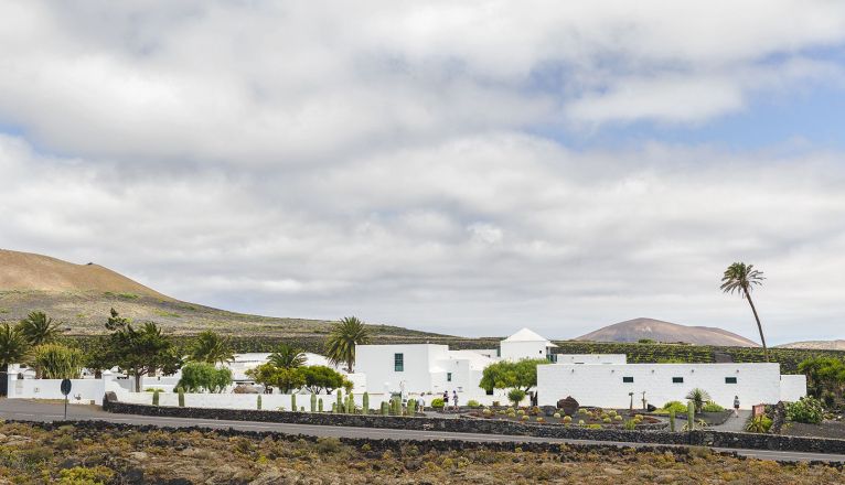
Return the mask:
<svg viewBox="0 0 845 485">
<path fill-rule="evenodd" d="M 0 249 L 0 289 L 111 292 L 172 300 L 99 265 L 74 265 L 49 256 Z"/>
</svg>

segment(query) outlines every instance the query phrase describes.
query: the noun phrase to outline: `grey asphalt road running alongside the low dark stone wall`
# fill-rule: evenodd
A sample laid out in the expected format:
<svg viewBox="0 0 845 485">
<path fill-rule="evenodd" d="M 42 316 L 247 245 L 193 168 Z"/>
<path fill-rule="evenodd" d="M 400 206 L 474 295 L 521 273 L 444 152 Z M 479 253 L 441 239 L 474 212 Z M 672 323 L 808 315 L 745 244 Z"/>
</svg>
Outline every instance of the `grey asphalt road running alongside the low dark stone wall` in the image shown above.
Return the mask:
<svg viewBox="0 0 845 485">
<path fill-rule="evenodd" d="M 30 401 L 24 399 L 0 399 L 0 418 L 15 421 L 63 421 L 64 405 L 58 402 Z M 440 431 L 383 430 L 372 428 L 323 427 L 311 424 L 268 423 L 254 421 L 225 421 L 210 419 L 164 418 L 135 414 L 114 414 L 96 406 L 68 405 L 67 420 L 99 420 L 127 424 L 152 424 L 159 427 L 186 428 L 202 427 L 212 429 L 235 429 L 245 431 L 272 431 L 286 434 L 307 434 L 312 436 L 368 438 L 374 440 L 462 440 L 472 442 L 542 442 L 602 444 L 623 448 L 654 446 L 650 443 L 627 443 L 592 440 L 560 440 L 534 436 L 512 436 L 501 434 L 450 433 Z M 799 453 L 770 450 L 714 449 L 736 452 L 737 454 L 760 460 L 792 462 L 845 462 L 845 455 L 824 453 Z"/>
</svg>

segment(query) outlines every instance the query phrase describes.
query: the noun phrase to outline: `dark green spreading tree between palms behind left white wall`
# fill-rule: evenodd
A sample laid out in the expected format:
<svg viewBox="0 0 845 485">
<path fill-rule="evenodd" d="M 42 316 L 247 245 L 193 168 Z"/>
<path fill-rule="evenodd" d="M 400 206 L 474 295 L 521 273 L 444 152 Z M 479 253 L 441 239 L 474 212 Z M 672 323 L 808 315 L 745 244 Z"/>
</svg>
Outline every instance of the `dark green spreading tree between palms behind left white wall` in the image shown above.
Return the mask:
<svg viewBox="0 0 845 485">
<path fill-rule="evenodd" d="M 147 322 L 136 328 L 111 309 L 106 327 L 114 331 L 109 337 L 110 355 L 118 367 L 135 377 L 136 392 L 141 391 L 141 377 L 158 370 L 170 375 L 181 367 L 172 340 L 154 323 Z"/>
</svg>

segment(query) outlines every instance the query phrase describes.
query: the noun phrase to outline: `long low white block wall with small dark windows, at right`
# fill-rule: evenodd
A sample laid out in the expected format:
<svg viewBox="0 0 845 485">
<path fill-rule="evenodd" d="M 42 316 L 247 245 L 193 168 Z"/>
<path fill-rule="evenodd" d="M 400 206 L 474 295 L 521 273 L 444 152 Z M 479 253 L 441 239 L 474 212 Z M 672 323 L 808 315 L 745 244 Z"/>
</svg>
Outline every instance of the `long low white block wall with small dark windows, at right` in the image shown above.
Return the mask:
<svg viewBox="0 0 845 485">
<path fill-rule="evenodd" d="M 633 377 L 627 384 L 623 377 Z M 683 384 L 673 384 L 683 377 Z M 736 377 L 737 384 L 726 384 Z M 558 399 L 574 397 L 581 406 L 627 408 L 629 392 L 634 392 L 634 406 L 642 406 L 641 392 L 654 406 L 672 400 L 684 401 L 693 388 L 709 392 L 713 400 L 726 408 L 739 396 L 740 406 L 771 403 L 781 399 L 779 364 L 627 364 L 627 365 L 545 365 L 537 368 L 537 391 L 541 406 L 554 406 Z"/>
</svg>

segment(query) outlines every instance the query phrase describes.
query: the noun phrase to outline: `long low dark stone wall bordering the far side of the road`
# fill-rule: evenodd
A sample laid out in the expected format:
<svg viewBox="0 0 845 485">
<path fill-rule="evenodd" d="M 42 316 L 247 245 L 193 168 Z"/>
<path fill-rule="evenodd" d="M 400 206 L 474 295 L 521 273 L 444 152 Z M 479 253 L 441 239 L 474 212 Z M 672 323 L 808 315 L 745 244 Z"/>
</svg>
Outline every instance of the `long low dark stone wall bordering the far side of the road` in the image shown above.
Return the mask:
<svg viewBox="0 0 845 485">
<path fill-rule="evenodd" d="M 482 419 L 407 418 L 395 416 L 332 414 L 244 409 L 170 408 L 118 402 L 114 399 L 108 399 L 108 395 L 107 398 L 104 399 L 103 409 L 115 413 L 153 417 L 161 416 L 169 418 L 443 431 L 453 433 L 482 433 L 569 440 L 845 454 L 845 440 L 729 433 L 708 430 L 693 431 L 692 433 L 673 433 L 670 431 L 627 431 L 621 429 L 591 430 L 580 427 L 533 424 Z"/>
</svg>

